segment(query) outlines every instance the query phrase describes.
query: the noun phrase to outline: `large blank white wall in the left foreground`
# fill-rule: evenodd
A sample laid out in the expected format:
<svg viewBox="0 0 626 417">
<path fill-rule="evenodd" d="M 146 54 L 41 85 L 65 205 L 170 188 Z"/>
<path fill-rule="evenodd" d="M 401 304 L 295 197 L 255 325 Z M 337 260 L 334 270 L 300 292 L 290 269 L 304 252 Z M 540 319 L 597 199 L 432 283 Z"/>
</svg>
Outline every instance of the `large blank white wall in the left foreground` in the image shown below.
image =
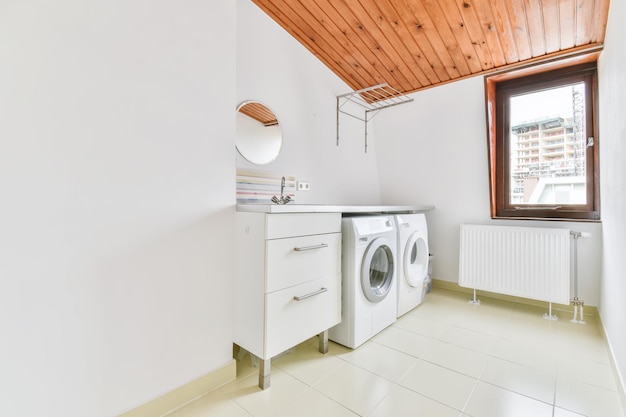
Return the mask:
<svg viewBox="0 0 626 417">
<path fill-rule="evenodd" d="M 231 359 L 235 4 L 0 6 L 0 415 L 112 416 Z"/>
</svg>

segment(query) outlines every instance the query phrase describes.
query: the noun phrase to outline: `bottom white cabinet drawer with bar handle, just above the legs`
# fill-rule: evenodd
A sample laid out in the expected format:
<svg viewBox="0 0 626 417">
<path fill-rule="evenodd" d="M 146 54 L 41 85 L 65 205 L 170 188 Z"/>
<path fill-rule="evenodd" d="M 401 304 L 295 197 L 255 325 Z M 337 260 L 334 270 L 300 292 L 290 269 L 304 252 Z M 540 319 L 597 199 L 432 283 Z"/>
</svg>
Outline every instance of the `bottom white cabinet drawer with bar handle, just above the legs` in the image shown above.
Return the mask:
<svg viewBox="0 0 626 417">
<path fill-rule="evenodd" d="M 341 321 L 341 274 L 275 291 L 265 297 L 266 358 Z M 294 297 L 304 298 L 297 301 Z"/>
</svg>

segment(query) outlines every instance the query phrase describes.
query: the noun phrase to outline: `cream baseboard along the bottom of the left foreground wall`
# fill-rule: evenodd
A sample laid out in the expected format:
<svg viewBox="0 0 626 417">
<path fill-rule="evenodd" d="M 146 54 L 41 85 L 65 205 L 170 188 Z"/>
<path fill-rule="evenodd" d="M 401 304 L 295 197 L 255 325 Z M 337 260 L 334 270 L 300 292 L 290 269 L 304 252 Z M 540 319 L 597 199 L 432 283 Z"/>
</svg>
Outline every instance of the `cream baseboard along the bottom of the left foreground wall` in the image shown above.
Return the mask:
<svg viewBox="0 0 626 417">
<path fill-rule="evenodd" d="M 120 414 L 118 417 L 156 417 L 182 407 L 194 399 L 216 390 L 233 381 L 237 375 L 236 361 L 233 359 L 225 366 L 200 378 L 176 388 L 137 408 Z"/>
</svg>

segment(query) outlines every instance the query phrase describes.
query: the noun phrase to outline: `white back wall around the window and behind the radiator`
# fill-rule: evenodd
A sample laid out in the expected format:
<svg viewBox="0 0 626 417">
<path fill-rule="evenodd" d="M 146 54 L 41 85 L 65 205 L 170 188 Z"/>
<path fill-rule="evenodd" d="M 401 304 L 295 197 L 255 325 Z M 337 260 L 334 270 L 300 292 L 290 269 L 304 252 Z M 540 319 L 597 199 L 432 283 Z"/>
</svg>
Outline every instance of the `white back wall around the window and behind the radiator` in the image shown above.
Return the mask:
<svg viewBox="0 0 626 417">
<path fill-rule="evenodd" d="M 428 212 L 433 277 L 458 280 L 462 223 L 568 228 L 592 234 L 579 242 L 579 296 L 598 305 L 599 223 L 491 220 L 485 96 L 482 77 L 411 95 L 412 103 L 374 120 L 385 204 L 433 204 Z"/>
</svg>

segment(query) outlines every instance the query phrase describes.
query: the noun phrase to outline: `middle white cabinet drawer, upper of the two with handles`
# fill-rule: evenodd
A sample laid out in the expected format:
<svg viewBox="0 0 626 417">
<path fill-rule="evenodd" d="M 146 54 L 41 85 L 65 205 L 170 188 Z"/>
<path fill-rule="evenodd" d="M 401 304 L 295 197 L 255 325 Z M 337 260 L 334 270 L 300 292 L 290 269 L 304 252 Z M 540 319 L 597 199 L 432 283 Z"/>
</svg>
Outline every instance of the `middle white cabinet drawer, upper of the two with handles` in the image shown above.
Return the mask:
<svg viewBox="0 0 626 417">
<path fill-rule="evenodd" d="M 341 273 L 341 233 L 266 241 L 266 292 Z"/>
</svg>

